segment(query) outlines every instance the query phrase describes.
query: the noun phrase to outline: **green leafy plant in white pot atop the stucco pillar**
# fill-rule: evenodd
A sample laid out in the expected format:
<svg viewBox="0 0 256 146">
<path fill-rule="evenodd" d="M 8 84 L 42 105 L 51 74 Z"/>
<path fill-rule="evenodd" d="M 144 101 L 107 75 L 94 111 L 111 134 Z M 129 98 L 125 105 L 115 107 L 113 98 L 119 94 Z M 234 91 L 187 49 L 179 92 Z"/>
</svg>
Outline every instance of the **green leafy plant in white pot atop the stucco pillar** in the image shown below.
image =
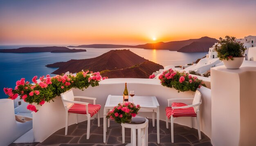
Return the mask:
<svg viewBox="0 0 256 146">
<path fill-rule="evenodd" d="M 239 69 L 245 58 L 245 48 L 243 43 L 236 41 L 235 37 L 226 36 L 225 39 L 215 45 L 218 58 L 223 62 L 227 69 Z"/>
</svg>

